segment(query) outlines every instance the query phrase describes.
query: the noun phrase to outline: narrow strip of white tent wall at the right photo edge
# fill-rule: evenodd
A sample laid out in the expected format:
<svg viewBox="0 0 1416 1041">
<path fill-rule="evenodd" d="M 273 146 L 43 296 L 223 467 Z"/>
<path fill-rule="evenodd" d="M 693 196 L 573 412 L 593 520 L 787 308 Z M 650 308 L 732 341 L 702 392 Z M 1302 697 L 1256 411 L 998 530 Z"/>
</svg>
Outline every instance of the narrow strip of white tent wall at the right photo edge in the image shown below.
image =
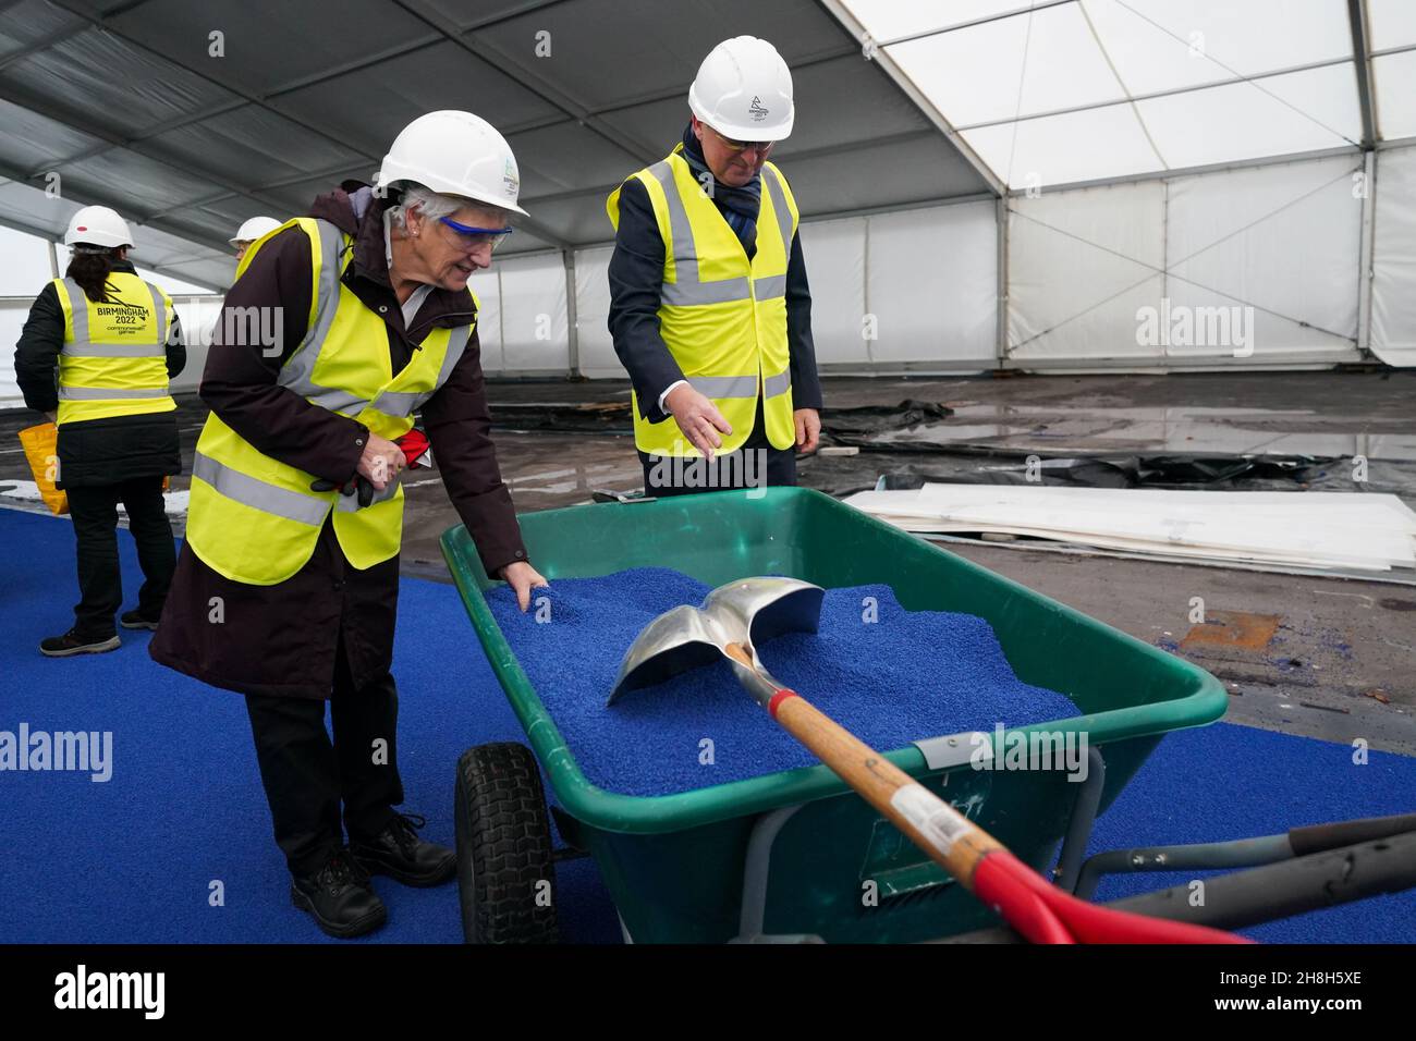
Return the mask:
<svg viewBox="0 0 1416 1041">
<path fill-rule="evenodd" d="M 1416 365 L 1416 146 L 1376 153 L 1372 353 Z"/>
</svg>

